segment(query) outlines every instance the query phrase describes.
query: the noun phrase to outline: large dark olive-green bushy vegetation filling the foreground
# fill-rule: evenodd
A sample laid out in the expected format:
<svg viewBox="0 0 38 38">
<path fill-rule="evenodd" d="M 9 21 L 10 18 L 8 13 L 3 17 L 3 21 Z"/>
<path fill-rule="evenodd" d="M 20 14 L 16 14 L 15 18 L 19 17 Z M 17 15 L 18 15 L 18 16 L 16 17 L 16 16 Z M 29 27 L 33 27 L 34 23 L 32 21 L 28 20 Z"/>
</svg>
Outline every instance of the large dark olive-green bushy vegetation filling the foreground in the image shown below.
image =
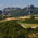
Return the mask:
<svg viewBox="0 0 38 38">
<path fill-rule="evenodd" d="M 34 37 L 33 34 L 36 36 Z M 28 38 L 29 35 L 33 38 L 38 38 L 38 27 L 37 28 L 23 28 L 17 20 L 7 21 L 0 23 L 0 38 Z"/>
</svg>

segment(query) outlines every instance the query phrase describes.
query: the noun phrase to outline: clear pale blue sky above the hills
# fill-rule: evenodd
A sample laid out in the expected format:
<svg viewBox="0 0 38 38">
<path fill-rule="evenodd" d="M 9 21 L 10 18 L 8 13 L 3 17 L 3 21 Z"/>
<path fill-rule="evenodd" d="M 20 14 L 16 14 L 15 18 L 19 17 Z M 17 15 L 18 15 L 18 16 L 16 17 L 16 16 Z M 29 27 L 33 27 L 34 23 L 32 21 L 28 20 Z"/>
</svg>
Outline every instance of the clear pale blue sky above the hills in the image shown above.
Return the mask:
<svg viewBox="0 0 38 38">
<path fill-rule="evenodd" d="M 0 10 L 3 10 L 8 7 L 24 8 L 31 4 L 38 7 L 38 0 L 0 0 Z"/>
</svg>

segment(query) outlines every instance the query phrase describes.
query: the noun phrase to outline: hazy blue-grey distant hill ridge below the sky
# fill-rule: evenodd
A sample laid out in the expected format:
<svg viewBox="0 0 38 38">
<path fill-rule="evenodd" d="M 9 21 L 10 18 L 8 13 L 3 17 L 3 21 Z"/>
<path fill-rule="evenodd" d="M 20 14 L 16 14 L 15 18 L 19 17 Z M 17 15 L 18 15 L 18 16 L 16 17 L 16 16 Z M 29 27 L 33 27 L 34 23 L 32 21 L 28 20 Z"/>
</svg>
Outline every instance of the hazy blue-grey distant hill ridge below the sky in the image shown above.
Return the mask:
<svg viewBox="0 0 38 38">
<path fill-rule="evenodd" d="M 23 9 L 21 8 L 4 8 L 3 9 L 3 15 L 5 16 L 17 17 L 17 16 L 24 16 L 29 14 L 38 14 L 38 8 L 30 5 L 30 7 L 25 7 Z"/>
</svg>

